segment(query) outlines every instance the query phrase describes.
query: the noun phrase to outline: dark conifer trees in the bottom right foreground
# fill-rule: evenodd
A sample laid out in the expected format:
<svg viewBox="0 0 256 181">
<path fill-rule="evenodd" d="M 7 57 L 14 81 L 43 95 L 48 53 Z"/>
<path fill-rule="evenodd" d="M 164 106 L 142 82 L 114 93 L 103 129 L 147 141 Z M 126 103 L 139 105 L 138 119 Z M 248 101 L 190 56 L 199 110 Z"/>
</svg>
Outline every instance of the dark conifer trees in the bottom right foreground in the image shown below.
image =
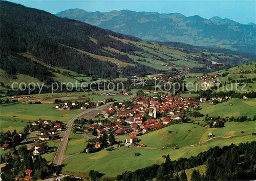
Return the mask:
<svg viewBox="0 0 256 181">
<path fill-rule="evenodd" d="M 201 175 L 199 171 L 193 171 L 191 180 L 252 180 L 256 178 L 255 149 L 256 142 L 247 142 L 223 148 L 216 146 L 189 159 L 182 157 L 171 161 L 167 155 L 163 164 L 125 171 L 117 176 L 117 180 L 187 180 L 184 170 L 200 165 L 206 165 L 206 172 Z"/>
</svg>

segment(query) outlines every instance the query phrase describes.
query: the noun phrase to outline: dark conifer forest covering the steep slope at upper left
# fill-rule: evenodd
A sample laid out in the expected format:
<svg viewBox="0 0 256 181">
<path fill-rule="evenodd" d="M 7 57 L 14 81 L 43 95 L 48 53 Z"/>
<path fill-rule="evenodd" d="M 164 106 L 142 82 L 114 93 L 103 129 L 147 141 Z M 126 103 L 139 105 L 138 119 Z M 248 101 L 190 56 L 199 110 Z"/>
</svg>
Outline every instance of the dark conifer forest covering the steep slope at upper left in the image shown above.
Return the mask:
<svg viewBox="0 0 256 181">
<path fill-rule="evenodd" d="M 123 53 L 140 51 L 133 44 L 123 43 L 111 36 L 139 41 L 136 37 L 103 30 L 76 20 L 59 18 L 45 11 L 10 2 L 1 1 L 0 9 L 0 68 L 11 75 L 21 73 L 42 80 L 48 79 L 51 77 L 49 71 L 54 70 L 42 66 L 45 63 L 87 76 L 117 78 L 122 72 L 118 70 L 115 59 L 133 66 L 135 62 L 127 55 L 108 52 L 104 48 L 109 47 Z M 31 57 L 41 63 L 24 57 L 24 53 L 30 53 Z M 109 57 L 112 61 L 102 61 L 97 56 Z M 37 72 L 33 73 L 33 70 Z M 145 74 L 160 72 L 146 66 L 140 71 Z"/>
</svg>

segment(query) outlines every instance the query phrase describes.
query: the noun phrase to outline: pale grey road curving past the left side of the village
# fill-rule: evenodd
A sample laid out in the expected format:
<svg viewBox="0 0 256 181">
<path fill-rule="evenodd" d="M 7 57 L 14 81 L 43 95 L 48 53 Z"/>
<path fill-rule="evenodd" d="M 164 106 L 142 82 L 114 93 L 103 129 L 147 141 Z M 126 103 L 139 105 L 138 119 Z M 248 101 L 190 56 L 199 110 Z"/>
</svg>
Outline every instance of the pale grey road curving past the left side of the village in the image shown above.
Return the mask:
<svg viewBox="0 0 256 181">
<path fill-rule="evenodd" d="M 131 99 L 132 97 L 129 97 L 127 99 Z M 127 100 L 127 99 L 124 99 L 124 100 Z M 96 107 L 96 108 L 93 108 L 93 109 L 87 109 L 83 112 L 81 112 L 80 114 L 74 116 L 73 118 L 71 118 L 68 123 L 67 123 L 67 130 L 64 132 L 64 135 L 63 135 L 63 138 L 62 138 L 62 141 L 59 143 L 59 147 L 58 147 L 58 150 L 56 152 L 56 155 L 54 157 L 54 160 L 53 160 L 53 163 L 55 165 L 61 165 L 62 163 L 62 160 L 63 160 L 63 155 L 64 155 L 64 152 L 66 150 L 66 147 L 68 145 L 68 139 L 69 139 L 69 134 L 71 133 L 71 130 L 72 130 L 72 125 L 74 123 L 74 121 L 84 115 L 90 115 L 92 116 L 92 114 L 96 114 L 97 111 L 95 110 L 102 110 L 104 107 L 110 105 L 110 104 L 113 104 L 113 102 L 109 102 L 109 103 L 106 103 L 105 105 L 103 106 L 100 106 L 100 107 Z M 96 115 L 94 115 L 96 116 Z"/>
</svg>

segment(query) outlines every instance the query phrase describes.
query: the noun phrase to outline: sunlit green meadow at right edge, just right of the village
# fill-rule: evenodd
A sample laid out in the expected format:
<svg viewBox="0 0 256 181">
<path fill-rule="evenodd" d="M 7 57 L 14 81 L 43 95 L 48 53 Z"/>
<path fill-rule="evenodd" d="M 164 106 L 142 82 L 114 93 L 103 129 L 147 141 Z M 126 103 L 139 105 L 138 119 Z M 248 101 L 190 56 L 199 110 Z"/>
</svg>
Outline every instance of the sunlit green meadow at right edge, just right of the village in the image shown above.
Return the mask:
<svg viewBox="0 0 256 181">
<path fill-rule="evenodd" d="M 233 104 L 232 106 L 230 104 Z M 208 103 L 201 104 L 200 112 L 204 115 L 209 116 L 220 116 L 220 117 L 238 117 L 238 116 L 248 116 L 252 118 L 256 112 L 256 98 L 254 99 L 238 99 L 233 98 L 227 102 L 223 102 L 216 105 L 210 105 Z"/>
</svg>

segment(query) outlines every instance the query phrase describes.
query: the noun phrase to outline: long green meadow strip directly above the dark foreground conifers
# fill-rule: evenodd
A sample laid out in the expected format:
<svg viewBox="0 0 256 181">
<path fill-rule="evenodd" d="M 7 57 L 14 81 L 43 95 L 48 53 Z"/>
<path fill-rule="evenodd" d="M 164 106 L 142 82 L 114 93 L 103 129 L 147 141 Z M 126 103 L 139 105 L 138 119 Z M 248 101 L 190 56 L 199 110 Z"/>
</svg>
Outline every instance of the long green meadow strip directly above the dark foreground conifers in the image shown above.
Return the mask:
<svg viewBox="0 0 256 181">
<path fill-rule="evenodd" d="M 63 167 L 62 172 L 68 174 L 82 175 L 88 173 L 90 170 L 97 170 L 105 173 L 106 176 L 116 176 L 126 170 L 136 170 L 144 168 L 152 164 L 161 164 L 163 154 L 170 154 L 172 160 L 179 159 L 179 157 L 189 157 L 197 155 L 202 151 L 206 151 L 214 146 L 225 146 L 231 143 L 239 144 L 241 142 L 254 141 L 252 135 L 244 137 L 235 137 L 233 139 L 215 139 L 204 144 L 197 144 L 195 146 L 186 146 L 180 149 L 151 149 L 139 147 L 120 147 L 113 151 L 101 150 L 96 153 L 79 153 L 69 157 L 63 162 L 66 166 Z M 134 156 L 134 152 L 141 153 L 140 156 Z M 77 164 L 79 163 L 79 167 Z M 132 164 L 131 164 L 132 163 Z"/>
</svg>

